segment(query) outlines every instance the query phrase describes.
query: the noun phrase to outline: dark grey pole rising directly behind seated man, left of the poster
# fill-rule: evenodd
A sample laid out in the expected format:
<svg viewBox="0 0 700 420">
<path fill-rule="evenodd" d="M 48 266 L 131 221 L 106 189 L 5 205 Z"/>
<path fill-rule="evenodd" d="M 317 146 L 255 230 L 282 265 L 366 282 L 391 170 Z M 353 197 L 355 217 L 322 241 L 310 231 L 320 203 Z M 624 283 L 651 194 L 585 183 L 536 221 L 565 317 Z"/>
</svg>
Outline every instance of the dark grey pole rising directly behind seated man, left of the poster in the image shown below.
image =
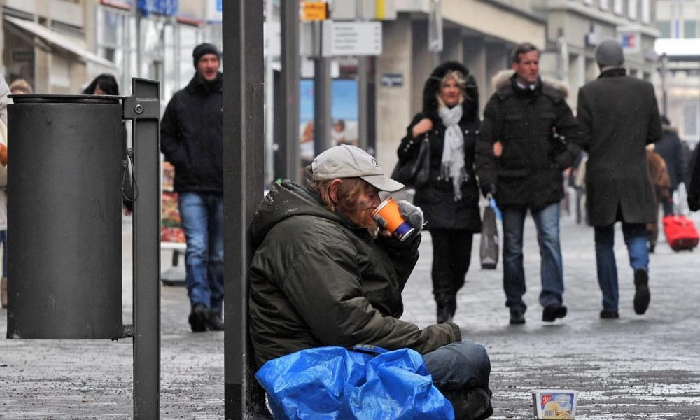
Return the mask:
<svg viewBox="0 0 700 420">
<path fill-rule="evenodd" d="M 286 179 L 300 179 L 299 162 L 299 2 L 281 1 L 283 98 L 281 136 L 278 153 L 281 156 L 279 174 Z"/>
</svg>

